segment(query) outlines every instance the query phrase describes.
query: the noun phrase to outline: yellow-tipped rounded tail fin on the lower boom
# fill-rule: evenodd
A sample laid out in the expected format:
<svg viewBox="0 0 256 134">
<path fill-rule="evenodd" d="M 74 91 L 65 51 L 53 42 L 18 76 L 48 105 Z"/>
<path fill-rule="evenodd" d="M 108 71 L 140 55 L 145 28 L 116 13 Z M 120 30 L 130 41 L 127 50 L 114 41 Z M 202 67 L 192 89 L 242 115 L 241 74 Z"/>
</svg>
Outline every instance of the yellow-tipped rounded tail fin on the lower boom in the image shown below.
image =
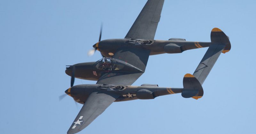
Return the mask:
<svg viewBox="0 0 256 134">
<path fill-rule="evenodd" d="M 199 99 L 204 95 L 204 90 L 195 76 L 186 74 L 183 78 L 183 90 L 181 96 L 184 98 Z"/>
</svg>

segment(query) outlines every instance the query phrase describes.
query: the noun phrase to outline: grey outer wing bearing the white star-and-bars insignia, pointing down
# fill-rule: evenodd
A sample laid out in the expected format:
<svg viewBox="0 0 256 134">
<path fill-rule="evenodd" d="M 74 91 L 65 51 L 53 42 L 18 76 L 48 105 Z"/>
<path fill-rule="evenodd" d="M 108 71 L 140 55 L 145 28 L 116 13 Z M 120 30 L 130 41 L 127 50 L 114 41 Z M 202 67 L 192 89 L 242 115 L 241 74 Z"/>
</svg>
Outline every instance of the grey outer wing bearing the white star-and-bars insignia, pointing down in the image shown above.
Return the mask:
<svg viewBox="0 0 256 134">
<path fill-rule="evenodd" d="M 101 113 L 103 113 L 105 109 L 118 97 L 119 95 L 116 94 L 105 94 L 99 92 L 91 93 L 79 114 L 76 116 L 76 119 L 70 126 L 68 134 L 74 134 L 83 130 Z"/>
</svg>

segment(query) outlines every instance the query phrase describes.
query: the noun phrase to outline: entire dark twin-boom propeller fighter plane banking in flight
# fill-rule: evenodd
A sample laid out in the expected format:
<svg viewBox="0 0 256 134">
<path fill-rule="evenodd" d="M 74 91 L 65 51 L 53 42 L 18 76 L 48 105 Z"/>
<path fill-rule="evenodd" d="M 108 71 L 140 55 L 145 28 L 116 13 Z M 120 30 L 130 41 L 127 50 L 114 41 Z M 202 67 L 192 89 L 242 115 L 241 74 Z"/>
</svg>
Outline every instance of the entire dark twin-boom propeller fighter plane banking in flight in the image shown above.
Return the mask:
<svg viewBox="0 0 256 134">
<path fill-rule="evenodd" d="M 202 84 L 221 52 L 231 49 L 229 38 L 219 28 L 213 28 L 211 42 L 190 42 L 171 38 L 168 41 L 154 40 L 164 0 L 148 0 L 124 39 L 101 39 L 94 44 L 92 55 L 98 50 L 103 59 L 79 63 L 67 67 L 71 87 L 66 94 L 84 106 L 70 126 L 68 134 L 87 127 L 113 102 L 134 99 L 154 99 L 158 96 L 181 93 L 184 98 L 199 99 L 204 91 Z M 181 53 L 190 49 L 209 47 L 193 75 L 186 74 L 183 88 L 158 87 L 155 84 L 131 86 L 144 72 L 149 55 Z M 96 84 L 74 84 L 74 79 L 97 81 Z"/>
</svg>

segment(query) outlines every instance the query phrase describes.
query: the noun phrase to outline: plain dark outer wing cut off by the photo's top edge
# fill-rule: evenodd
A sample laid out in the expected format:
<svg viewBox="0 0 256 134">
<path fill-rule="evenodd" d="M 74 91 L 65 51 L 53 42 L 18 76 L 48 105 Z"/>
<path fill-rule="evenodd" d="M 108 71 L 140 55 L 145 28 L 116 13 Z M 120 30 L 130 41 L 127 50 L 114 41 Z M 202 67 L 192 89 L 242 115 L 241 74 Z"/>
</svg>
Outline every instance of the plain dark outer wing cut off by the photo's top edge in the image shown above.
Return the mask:
<svg viewBox="0 0 256 134">
<path fill-rule="evenodd" d="M 163 5 L 164 0 L 148 0 L 125 38 L 153 40 Z"/>
</svg>

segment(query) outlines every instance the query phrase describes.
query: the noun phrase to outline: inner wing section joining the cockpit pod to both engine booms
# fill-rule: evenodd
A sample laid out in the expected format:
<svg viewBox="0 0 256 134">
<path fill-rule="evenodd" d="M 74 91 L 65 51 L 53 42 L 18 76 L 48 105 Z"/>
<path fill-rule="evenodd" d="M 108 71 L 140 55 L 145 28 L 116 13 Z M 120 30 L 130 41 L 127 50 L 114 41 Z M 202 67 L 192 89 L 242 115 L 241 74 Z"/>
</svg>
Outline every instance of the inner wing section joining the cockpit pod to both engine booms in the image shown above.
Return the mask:
<svg viewBox="0 0 256 134">
<path fill-rule="evenodd" d="M 150 51 L 145 49 L 121 47 L 112 58 L 123 60 L 144 72 L 148 63 L 149 53 Z M 97 84 L 132 85 L 143 72 L 103 72 Z"/>
</svg>

